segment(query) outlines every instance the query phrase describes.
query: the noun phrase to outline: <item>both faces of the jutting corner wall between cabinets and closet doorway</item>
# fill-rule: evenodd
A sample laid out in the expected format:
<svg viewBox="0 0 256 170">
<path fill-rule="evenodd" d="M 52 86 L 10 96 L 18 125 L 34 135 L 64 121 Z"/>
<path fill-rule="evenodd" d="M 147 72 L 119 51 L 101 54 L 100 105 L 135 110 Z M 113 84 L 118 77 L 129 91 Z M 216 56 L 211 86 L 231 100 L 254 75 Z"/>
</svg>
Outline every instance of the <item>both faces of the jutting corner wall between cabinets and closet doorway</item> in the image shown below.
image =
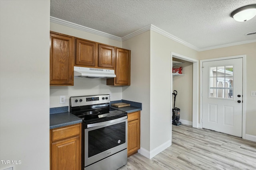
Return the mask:
<svg viewBox="0 0 256 170">
<path fill-rule="evenodd" d="M 171 52 L 194 59 L 198 52 L 154 31 L 124 41 L 123 48 L 132 50 L 132 64 L 122 97 L 142 102 L 139 152 L 152 158 L 171 143 Z"/>
</svg>

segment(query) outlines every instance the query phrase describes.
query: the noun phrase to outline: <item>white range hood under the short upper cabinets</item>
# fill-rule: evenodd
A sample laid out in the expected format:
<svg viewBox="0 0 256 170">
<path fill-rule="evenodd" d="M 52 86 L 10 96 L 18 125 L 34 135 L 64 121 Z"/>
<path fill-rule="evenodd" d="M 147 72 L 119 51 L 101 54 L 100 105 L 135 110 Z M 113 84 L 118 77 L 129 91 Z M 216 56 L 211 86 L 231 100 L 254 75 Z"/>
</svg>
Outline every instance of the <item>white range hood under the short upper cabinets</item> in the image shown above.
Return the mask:
<svg viewBox="0 0 256 170">
<path fill-rule="evenodd" d="M 74 66 L 74 76 L 86 78 L 114 78 L 114 70 Z"/>
</svg>

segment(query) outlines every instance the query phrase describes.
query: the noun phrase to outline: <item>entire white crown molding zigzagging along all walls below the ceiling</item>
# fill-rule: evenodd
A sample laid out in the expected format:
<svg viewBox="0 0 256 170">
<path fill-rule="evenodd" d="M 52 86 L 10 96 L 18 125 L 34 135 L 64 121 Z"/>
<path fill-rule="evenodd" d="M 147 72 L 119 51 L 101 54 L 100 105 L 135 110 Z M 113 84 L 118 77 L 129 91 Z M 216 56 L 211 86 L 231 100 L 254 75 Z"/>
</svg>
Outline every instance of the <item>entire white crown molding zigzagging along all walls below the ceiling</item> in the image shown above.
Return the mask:
<svg viewBox="0 0 256 170">
<path fill-rule="evenodd" d="M 58 23 L 60 25 L 64 25 L 64 26 L 67 26 L 67 27 L 72 27 L 74 29 L 79 29 L 79 30 L 82 30 L 82 31 L 86 31 L 88 33 L 93 33 L 93 34 L 96 34 L 96 35 L 100 35 L 102 37 L 107 37 L 107 38 L 110 38 L 110 39 L 114 39 L 116 41 L 125 41 L 127 39 L 130 39 L 132 37 L 135 37 L 141 33 L 144 33 L 146 31 L 154 31 L 156 33 L 159 33 L 169 39 L 172 39 L 182 45 L 185 45 L 186 47 L 189 47 L 191 49 L 194 49 L 198 52 L 200 51 L 207 51 L 207 50 L 212 50 L 212 49 L 219 49 L 219 48 L 224 48 L 224 47 L 231 47 L 231 46 L 234 46 L 234 45 L 242 45 L 242 44 L 247 44 L 247 43 L 254 43 L 256 42 L 256 40 L 249 40 L 249 41 L 242 41 L 242 42 L 238 42 L 238 43 L 230 43 L 230 44 L 226 44 L 226 45 L 218 45 L 218 46 L 214 46 L 214 47 L 208 47 L 208 48 L 204 48 L 204 49 L 199 49 L 198 47 L 190 44 L 190 43 L 187 43 L 186 41 L 183 41 L 182 39 L 179 39 L 178 37 L 175 37 L 174 35 L 150 24 L 150 25 L 147 25 L 146 27 L 143 27 L 141 29 L 139 29 L 138 31 L 134 31 L 133 33 L 130 33 L 124 37 L 117 37 L 115 35 L 111 35 L 111 34 L 108 34 L 108 33 L 104 33 L 102 31 L 98 31 L 96 29 L 92 29 L 92 28 L 89 28 L 89 27 L 84 27 L 82 25 L 78 25 L 76 23 L 72 23 L 72 22 L 69 22 L 69 21 L 65 21 L 65 20 L 61 20 L 59 18 L 55 18 L 55 17 L 52 17 L 50 16 L 50 22 L 52 23 Z"/>
</svg>

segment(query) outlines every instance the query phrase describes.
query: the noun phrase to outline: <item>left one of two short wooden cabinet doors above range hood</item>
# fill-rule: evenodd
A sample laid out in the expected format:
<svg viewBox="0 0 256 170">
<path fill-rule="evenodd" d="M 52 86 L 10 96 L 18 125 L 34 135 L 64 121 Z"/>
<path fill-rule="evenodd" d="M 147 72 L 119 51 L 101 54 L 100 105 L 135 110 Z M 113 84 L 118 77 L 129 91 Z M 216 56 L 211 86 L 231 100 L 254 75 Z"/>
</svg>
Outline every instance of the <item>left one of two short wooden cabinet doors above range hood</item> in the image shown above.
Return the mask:
<svg viewBox="0 0 256 170">
<path fill-rule="evenodd" d="M 96 43 L 76 39 L 76 65 L 96 66 Z"/>
</svg>

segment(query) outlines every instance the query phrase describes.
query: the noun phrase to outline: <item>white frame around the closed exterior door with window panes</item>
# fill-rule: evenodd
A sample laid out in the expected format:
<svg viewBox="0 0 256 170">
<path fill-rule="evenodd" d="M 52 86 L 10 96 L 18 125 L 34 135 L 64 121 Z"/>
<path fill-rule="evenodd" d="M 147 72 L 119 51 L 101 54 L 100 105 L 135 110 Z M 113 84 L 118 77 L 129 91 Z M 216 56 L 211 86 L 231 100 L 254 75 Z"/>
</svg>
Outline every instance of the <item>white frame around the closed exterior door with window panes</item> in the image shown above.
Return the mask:
<svg viewBox="0 0 256 170">
<path fill-rule="evenodd" d="M 203 65 L 203 62 L 226 60 L 226 59 L 237 59 L 237 58 L 243 59 L 242 138 L 245 139 L 245 136 L 246 136 L 246 55 L 236 55 L 236 56 L 230 56 L 230 57 L 221 57 L 221 58 L 200 60 L 200 128 L 202 128 L 202 117 L 203 117 L 203 99 L 202 99 L 202 88 L 203 88 L 202 65 Z"/>
</svg>

